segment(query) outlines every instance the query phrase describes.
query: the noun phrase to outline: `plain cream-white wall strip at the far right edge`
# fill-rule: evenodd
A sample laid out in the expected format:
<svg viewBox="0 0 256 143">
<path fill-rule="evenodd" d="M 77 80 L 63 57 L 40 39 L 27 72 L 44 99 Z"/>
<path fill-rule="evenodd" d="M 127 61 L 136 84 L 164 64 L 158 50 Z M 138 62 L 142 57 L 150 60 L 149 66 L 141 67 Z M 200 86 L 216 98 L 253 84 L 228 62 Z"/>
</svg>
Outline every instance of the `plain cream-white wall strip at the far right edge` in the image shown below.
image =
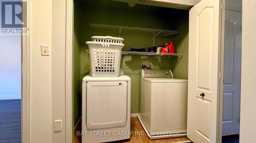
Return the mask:
<svg viewBox="0 0 256 143">
<path fill-rule="evenodd" d="M 240 142 L 256 140 L 256 1 L 243 0 Z"/>
</svg>

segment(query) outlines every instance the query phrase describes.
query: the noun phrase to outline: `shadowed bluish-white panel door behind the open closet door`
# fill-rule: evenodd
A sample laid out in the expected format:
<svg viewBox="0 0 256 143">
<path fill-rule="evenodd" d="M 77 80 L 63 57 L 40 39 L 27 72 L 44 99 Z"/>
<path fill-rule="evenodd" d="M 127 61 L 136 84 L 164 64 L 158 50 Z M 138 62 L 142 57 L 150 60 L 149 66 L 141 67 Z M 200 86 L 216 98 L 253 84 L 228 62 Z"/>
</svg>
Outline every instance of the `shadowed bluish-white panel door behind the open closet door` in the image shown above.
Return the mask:
<svg viewBox="0 0 256 143">
<path fill-rule="evenodd" d="M 242 12 L 225 10 L 222 135 L 239 134 Z"/>
</svg>

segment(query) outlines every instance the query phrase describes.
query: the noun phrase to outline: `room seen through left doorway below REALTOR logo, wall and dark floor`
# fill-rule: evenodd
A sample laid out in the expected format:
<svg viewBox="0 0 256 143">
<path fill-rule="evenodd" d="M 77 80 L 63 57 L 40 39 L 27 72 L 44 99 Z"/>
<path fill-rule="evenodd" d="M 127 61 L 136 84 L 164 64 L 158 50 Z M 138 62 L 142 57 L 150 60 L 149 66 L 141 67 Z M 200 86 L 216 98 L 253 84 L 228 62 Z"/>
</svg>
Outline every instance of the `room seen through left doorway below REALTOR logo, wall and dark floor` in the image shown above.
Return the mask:
<svg viewBox="0 0 256 143">
<path fill-rule="evenodd" d="M 20 35 L 0 36 L 0 142 L 20 143 L 21 55 Z"/>
</svg>

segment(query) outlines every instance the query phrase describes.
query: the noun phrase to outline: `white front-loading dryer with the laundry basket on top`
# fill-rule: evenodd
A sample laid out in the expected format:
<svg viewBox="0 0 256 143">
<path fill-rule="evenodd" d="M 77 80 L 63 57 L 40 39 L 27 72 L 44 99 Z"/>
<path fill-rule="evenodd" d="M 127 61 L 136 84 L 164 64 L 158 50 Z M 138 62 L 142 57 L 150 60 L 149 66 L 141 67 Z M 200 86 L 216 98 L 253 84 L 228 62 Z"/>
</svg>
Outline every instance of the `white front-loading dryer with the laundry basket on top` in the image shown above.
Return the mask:
<svg viewBox="0 0 256 143">
<path fill-rule="evenodd" d="M 92 77 L 82 80 L 82 143 L 130 138 L 131 78 Z"/>
</svg>

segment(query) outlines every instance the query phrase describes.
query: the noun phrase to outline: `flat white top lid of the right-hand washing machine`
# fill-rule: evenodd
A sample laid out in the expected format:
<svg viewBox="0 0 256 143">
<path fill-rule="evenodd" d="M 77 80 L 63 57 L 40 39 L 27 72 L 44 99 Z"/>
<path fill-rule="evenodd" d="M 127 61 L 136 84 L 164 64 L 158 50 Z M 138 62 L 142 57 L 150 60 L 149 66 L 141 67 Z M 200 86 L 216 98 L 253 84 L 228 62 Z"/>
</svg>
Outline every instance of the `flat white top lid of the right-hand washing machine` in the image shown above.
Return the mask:
<svg viewBox="0 0 256 143">
<path fill-rule="evenodd" d="M 141 80 L 145 80 L 153 83 L 177 83 L 177 82 L 187 82 L 186 79 L 179 78 L 164 78 L 164 77 L 144 77 Z"/>
</svg>

